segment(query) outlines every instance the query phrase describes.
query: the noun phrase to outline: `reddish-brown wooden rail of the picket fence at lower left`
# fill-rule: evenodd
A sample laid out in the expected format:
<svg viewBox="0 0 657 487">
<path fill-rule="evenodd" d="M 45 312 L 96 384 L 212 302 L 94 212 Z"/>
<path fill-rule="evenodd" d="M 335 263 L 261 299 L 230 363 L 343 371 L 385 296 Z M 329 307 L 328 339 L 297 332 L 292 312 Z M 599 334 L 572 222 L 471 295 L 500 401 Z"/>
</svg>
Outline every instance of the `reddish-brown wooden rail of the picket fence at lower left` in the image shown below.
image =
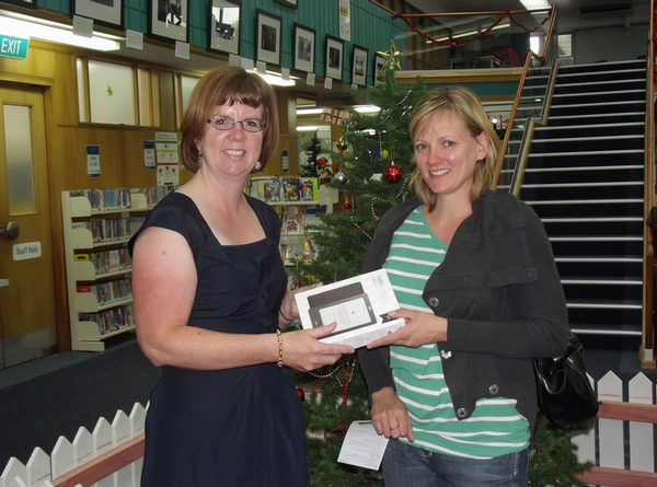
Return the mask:
<svg viewBox="0 0 657 487">
<path fill-rule="evenodd" d="M 145 436 L 116 447 L 53 480 L 53 487 L 89 487 L 143 456 Z"/>
</svg>

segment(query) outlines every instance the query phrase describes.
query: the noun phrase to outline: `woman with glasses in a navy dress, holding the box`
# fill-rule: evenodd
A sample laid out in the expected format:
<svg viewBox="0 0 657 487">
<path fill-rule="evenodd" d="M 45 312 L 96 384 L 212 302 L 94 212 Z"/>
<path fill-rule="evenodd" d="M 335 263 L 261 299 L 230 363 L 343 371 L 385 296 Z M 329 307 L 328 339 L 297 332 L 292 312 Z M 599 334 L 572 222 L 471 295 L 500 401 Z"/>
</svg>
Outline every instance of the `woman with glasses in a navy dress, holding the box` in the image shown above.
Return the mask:
<svg viewBox="0 0 657 487">
<path fill-rule="evenodd" d="M 309 486 L 303 419 L 289 368 L 353 348 L 281 334 L 287 292 L 278 216 L 243 193 L 278 140 L 276 95 L 220 68 L 194 89 L 181 152 L 192 179 L 130 241 L 137 337 L 160 367 L 146 421 L 142 487 Z"/>
</svg>

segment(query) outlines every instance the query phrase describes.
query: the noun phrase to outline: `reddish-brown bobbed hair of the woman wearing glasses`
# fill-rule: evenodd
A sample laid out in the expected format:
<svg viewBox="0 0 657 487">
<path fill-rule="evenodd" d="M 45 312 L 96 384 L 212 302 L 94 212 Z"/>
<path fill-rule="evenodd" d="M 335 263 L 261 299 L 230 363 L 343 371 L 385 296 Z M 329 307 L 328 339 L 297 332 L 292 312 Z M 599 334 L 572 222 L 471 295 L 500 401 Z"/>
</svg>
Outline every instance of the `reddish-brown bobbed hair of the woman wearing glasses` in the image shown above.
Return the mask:
<svg viewBox="0 0 657 487">
<path fill-rule="evenodd" d="M 258 74 L 249 73 L 243 68 L 218 68 L 204 76 L 189 95 L 183 115 L 181 153 L 185 167 L 196 172 L 198 149 L 196 141 L 203 139 L 208 129 L 208 119 L 216 106 L 241 103 L 253 108 L 263 108 L 265 130 L 260 162 L 262 167 L 274 152 L 278 142 L 278 101 L 276 93 Z M 214 129 L 212 129 L 214 130 Z"/>
</svg>

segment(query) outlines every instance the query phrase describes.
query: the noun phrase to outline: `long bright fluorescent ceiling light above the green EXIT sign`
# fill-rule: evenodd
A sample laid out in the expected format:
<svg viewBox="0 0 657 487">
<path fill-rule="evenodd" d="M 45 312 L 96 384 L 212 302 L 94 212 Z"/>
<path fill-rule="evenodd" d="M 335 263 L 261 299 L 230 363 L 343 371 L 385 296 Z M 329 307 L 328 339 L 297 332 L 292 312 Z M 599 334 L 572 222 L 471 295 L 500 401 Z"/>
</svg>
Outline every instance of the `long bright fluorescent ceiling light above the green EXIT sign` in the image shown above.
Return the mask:
<svg viewBox="0 0 657 487">
<path fill-rule="evenodd" d="M 9 18 L 5 16 L 4 12 L 0 15 L 0 32 L 4 35 L 49 40 L 51 43 L 68 44 L 70 46 L 95 50 L 118 50 L 120 47 L 116 40 L 99 37 L 96 35 L 93 37 L 82 37 L 74 35 L 72 27 L 68 25 L 56 25 L 58 26 Z"/>
</svg>

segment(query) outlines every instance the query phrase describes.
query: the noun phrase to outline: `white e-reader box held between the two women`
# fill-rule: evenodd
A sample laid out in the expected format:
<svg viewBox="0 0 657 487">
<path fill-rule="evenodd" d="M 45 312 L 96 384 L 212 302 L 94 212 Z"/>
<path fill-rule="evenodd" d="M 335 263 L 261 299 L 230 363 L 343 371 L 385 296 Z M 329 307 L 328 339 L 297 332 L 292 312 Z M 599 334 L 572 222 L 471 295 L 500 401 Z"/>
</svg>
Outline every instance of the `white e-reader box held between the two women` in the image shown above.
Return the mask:
<svg viewBox="0 0 657 487">
<path fill-rule="evenodd" d="M 404 326 L 388 312 L 400 308 L 385 270 L 374 270 L 295 294 L 303 328 L 337 323 L 335 331 L 321 341 L 354 348 Z"/>
</svg>

